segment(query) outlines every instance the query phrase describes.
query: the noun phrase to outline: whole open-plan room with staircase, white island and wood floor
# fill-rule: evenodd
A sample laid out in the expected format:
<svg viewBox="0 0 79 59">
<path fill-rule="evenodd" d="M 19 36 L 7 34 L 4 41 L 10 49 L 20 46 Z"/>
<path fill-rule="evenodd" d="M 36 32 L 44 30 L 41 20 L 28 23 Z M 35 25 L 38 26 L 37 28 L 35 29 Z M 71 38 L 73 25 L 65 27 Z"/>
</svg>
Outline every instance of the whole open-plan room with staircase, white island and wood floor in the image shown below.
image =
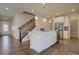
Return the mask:
<svg viewBox="0 0 79 59">
<path fill-rule="evenodd" d="M 0 3 L 0 55 L 79 55 L 79 3 Z"/>
</svg>

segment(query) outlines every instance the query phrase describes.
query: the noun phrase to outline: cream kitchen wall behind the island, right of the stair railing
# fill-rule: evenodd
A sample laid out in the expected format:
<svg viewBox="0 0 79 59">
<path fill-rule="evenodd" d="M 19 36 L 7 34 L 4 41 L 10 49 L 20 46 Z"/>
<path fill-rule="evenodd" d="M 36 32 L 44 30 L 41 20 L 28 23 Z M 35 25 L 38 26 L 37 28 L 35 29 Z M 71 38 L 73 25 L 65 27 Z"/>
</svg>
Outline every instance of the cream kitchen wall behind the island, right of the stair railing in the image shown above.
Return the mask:
<svg viewBox="0 0 79 59">
<path fill-rule="evenodd" d="M 49 31 L 49 22 L 48 19 L 46 19 L 46 22 L 43 21 L 43 17 L 38 17 L 38 19 L 35 21 L 36 23 L 36 28 L 34 29 L 35 31 L 39 31 L 40 28 L 45 28 L 46 31 Z"/>
</svg>

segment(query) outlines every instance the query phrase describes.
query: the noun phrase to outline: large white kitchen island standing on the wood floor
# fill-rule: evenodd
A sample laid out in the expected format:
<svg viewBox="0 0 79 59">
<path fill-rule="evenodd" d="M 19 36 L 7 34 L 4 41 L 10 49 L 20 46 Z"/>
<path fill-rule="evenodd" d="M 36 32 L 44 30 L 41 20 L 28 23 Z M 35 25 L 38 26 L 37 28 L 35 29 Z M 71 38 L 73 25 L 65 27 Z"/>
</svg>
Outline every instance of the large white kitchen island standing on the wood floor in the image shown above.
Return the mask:
<svg viewBox="0 0 79 59">
<path fill-rule="evenodd" d="M 56 42 L 57 35 L 55 31 L 34 31 L 30 35 L 30 48 L 39 53 L 52 46 Z"/>
</svg>

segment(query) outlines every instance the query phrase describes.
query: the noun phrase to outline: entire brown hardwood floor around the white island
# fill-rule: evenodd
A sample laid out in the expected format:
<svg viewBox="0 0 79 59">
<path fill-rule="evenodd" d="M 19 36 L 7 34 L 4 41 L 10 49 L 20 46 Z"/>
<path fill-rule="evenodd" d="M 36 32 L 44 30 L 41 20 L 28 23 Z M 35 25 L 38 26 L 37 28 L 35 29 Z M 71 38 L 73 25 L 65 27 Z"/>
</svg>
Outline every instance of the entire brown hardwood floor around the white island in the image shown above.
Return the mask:
<svg viewBox="0 0 79 59">
<path fill-rule="evenodd" d="M 59 43 L 49 47 L 41 53 L 30 49 L 30 42 L 20 43 L 10 36 L 0 36 L 0 55 L 78 55 L 79 40 L 71 38 L 61 39 Z"/>
</svg>

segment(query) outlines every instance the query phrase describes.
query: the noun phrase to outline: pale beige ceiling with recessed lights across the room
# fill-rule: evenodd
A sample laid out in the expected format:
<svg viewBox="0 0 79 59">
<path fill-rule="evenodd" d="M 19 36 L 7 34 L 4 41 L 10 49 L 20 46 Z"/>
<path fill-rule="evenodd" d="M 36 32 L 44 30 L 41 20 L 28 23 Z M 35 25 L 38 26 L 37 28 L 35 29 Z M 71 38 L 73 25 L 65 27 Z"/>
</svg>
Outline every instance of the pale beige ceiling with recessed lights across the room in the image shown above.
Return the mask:
<svg viewBox="0 0 79 59">
<path fill-rule="evenodd" d="M 6 10 L 5 8 L 8 8 Z M 34 10 L 33 12 L 31 10 Z M 78 3 L 0 3 L 0 15 L 13 17 L 22 11 L 34 13 L 43 17 L 50 17 L 56 14 L 66 14 L 72 12 L 72 9 L 78 10 Z"/>
</svg>

